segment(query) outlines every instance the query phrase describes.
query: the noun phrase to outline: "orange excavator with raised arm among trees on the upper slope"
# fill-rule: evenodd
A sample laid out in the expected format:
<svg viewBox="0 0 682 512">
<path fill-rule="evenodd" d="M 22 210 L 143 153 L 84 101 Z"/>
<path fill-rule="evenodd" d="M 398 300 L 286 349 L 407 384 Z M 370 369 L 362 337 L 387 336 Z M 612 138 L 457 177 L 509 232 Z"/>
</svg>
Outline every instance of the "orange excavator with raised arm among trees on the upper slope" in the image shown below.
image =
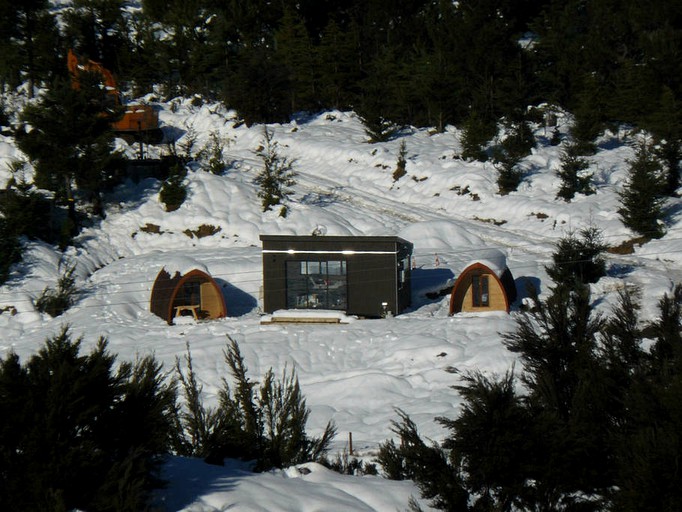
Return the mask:
<svg viewBox="0 0 682 512">
<path fill-rule="evenodd" d="M 124 104 L 114 76 L 101 63 L 90 59 L 80 59 L 72 50 L 69 50 L 67 66 L 75 89 L 80 88 L 78 77 L 81 72 L 99 73 L 107 93 L 111 95 L 115 104 L 125 108 L 123 117 L 112 123 L 112 128 L 118 136 L 128 143 L 158 144 L 163 140 L 163 132 L 159 128 L 159 113 L 151 105 Z"/>
</svg>

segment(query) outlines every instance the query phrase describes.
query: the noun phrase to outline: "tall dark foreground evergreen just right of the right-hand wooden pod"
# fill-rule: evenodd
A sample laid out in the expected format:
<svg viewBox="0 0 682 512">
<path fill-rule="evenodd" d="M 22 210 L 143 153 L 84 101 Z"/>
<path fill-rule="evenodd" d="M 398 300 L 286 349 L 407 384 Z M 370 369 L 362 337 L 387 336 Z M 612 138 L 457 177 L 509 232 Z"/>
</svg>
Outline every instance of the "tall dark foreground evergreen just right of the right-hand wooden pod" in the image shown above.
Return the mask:
<svg viewBox="0 0 682 512">
<path fill-rule="evenodd" d="M 586 287 L 559 287 L 535 313 L 519 319 L 515 332 L 504 335 L 524 367 L 521 379 L 538 440 L 533 501 L 544 502 L 546 510 L 561 503 L 599 510 L 594 498 L 605 497 L 613 482 L 608 413 L 617 397 L 596 357 L 602 326 Z"/>
</svg>

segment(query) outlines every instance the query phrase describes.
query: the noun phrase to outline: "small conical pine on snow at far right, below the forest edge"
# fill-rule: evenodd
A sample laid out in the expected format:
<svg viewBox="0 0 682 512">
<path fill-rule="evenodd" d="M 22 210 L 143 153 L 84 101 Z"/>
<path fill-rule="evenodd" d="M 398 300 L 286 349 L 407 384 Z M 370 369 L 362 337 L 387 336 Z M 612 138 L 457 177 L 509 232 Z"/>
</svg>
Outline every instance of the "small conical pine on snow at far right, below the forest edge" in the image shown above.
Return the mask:
<svg viewBox="0 0 682 512">
<path fill-rule="evenodd" d="M 628 181 L 620 192 L 620 217 L 627 227 L 646 238 L 663 236 L 661 163 L 648 144 L 637 148 Z"/>
</svg>

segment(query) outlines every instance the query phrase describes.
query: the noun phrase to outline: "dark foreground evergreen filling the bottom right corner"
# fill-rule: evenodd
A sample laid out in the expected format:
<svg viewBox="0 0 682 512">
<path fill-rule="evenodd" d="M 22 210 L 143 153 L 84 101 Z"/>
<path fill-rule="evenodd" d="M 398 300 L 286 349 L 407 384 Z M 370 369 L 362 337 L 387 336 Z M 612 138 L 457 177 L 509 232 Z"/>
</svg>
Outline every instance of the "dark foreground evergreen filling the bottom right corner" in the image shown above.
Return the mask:
<svg viewBox="0 0 682 512">
<path fill-rule="evenodd" d="M 682 457 L 682 286 L 659 301 L 660 317 L 649 326 L 651 352 L 632 372 L 627 421 L 618 429 L 618 491 L 614 510 L 679 510 Z"/>
</svg>

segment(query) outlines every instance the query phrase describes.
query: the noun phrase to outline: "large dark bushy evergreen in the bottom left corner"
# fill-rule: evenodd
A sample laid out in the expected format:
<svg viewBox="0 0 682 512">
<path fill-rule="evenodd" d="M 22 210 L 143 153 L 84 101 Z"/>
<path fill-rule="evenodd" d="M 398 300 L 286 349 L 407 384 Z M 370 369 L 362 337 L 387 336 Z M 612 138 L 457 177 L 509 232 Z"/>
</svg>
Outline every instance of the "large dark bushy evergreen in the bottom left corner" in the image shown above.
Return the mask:
<svg viewBox="0 0 682 512">
<path fill-rule="evenodd" d="M 175 391 L 152 358 L 81 355 L 63 329 L 0 364 L 0 508 L 145 510 L 169 448 Z"/>
</svg>

